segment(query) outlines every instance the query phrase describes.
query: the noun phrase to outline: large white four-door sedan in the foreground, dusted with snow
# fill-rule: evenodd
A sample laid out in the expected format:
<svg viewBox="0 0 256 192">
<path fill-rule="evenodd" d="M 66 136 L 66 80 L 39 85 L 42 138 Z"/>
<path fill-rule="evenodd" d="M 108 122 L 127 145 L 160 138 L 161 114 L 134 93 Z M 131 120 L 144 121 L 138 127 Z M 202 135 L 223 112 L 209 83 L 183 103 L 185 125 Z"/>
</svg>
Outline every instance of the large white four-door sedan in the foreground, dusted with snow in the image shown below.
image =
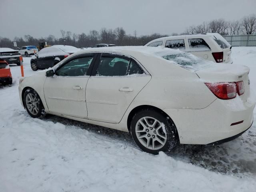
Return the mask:
<svg viewBox="0 0 256 192">
<path fill-rule="evenodd" d="M 131 132 L 149 153 L 182 144 L 221 144 L 252 125 L 249 68 L 168 48 L 86 49 L 21 78 L 33 118 L 54 114 Z"/>
</svg>

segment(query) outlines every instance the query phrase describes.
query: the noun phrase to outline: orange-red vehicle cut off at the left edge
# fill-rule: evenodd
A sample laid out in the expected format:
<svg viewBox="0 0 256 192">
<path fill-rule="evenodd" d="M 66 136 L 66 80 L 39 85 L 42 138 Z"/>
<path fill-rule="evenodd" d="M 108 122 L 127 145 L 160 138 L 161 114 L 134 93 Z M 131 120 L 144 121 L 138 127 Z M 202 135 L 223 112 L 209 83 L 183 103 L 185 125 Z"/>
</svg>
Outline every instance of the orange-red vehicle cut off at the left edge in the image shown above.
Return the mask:
<svg viewBox="0 0 256 192">
<path fill-rule="evenodd" d="M 0 84 L 12 84 L 10 66 L 3 59 L 0 59 Z"/>
</svg>

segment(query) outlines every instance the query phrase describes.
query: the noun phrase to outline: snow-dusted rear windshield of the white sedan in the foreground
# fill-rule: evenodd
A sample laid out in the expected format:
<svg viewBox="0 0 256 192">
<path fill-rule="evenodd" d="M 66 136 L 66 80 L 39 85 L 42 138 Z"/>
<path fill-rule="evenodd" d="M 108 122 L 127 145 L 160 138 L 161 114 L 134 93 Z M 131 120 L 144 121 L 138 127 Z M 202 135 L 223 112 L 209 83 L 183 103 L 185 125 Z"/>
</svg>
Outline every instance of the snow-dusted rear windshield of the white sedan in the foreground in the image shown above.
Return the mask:
<svg viewBox="0 0 256 192">
<path fill-rule="evenodd" d="M 174 64 L 177 64 L 182 68 L 192 71 L 206 69 L 214 64 L 213 62 L 203 60 L 197 56 L 184 52 L 177 54 L 164 54 L 164 52 L 158 52 L 157 55 L 166 60 L 173 61 Z"/>
</svg>

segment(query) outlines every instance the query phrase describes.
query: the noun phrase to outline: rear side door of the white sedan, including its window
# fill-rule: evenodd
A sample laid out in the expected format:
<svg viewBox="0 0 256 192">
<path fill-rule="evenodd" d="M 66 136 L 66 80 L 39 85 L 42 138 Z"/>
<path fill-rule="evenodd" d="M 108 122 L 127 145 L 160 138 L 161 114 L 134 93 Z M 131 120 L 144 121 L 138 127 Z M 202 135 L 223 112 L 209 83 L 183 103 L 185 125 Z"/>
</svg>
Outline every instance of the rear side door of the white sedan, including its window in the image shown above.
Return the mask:
<svg viewBox="0 0 256 192">
<path fill-rule="evenodd" d="M 151 76 L 132 58 L 99 54 L 86 86 L 88 119 L 120 122 L 132 100 L 150 79 Z"/>
</svg>

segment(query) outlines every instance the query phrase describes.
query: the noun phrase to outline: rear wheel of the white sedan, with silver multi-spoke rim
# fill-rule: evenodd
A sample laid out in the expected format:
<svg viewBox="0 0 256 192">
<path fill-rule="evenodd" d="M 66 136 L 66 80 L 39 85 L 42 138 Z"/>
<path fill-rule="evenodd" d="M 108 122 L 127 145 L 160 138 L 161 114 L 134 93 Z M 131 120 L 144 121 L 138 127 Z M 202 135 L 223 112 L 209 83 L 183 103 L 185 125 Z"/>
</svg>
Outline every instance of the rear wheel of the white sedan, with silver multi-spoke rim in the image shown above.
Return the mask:
<svg viewBox="0 0 256 192">
<path fill-rule="evenodd" d="M 132 118 L 130 130 L 136 144 L 143 151 L 151 154 L 168 152 L 178 142 L 174 122 L 153 109 L 137 112 Z"/>
</svg>

